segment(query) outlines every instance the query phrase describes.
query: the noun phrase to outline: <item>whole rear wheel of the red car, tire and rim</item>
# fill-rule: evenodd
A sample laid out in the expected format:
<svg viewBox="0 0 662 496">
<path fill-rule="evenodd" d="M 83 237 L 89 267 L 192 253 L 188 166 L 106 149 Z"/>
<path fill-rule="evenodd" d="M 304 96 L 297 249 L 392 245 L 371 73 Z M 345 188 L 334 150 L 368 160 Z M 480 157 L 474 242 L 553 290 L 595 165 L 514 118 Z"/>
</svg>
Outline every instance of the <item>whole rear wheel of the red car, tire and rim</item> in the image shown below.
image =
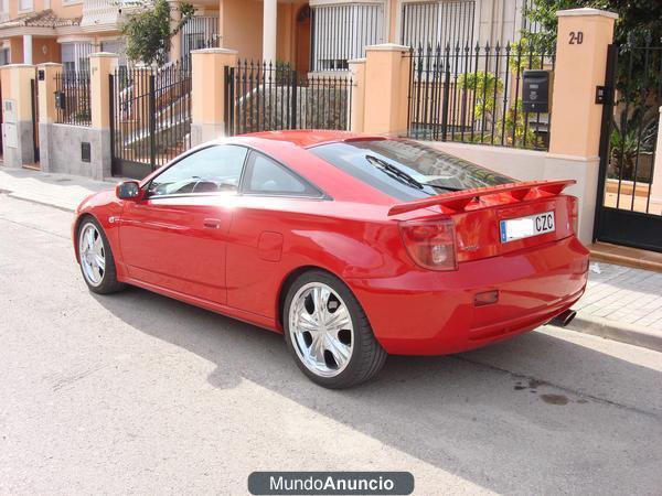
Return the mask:
<svg viewBox="0 0 662 496">
<path fill-rule="evenodd" d="M 284 321 L 297 365 L 320 386 L 341 389 L 364 382 L 386 360 L 350 289 L 327 272 L 313 270 L 295 281 Z"/>
</svg>

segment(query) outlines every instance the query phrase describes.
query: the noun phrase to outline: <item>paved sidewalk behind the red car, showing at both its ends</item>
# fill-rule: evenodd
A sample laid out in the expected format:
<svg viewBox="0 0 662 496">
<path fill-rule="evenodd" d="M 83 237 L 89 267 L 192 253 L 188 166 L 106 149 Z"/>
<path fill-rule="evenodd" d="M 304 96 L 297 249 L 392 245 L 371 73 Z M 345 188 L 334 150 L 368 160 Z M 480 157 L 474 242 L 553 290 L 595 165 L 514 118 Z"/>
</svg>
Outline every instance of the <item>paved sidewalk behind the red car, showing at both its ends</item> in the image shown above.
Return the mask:
<svg viewBox="0 0 662 496">
<path fill-rule="evenodd" d="M 87 195 L 115 182 L 0 168 L 9 196 L 74 211 Z M 592 261 L 586 294 L 567 328 L 662 352 L 662 272 Z"/>
</svg>

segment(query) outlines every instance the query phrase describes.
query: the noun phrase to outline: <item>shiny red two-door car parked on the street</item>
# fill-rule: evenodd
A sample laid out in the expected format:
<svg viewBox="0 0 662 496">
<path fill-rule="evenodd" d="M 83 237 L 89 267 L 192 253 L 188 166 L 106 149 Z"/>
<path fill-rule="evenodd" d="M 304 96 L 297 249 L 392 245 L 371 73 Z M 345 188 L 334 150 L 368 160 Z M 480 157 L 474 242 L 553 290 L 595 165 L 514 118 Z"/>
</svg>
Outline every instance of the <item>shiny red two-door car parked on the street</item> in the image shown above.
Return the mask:
<svg viewBox="0 0 662 496">
<path fill-rule="evenodd" d="M 96 293 L 125 283 L 284 333 L 332 388 L 387 354 L 531 331 L 583 294 L 573 181 L 515 182 L 419 142 L 281 131 L 205 143 L 76 211 Z"/>
</svg>

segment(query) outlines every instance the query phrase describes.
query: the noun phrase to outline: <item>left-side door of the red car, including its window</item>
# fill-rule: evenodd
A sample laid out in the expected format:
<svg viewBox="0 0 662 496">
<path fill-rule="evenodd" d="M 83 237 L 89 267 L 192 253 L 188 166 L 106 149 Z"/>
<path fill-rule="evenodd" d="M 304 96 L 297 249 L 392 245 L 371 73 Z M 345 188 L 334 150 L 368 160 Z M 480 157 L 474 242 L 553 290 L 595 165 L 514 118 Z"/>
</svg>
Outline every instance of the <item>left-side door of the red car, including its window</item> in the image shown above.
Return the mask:
<svg viewBox="0 0 662 496">
<path fill-rule="evenodd" d="M 124 206 L 119 241 L 131 279 L 225 304 L 225 252 L 247 149 L 216 144 L 185 155 Z"/>
</svg>

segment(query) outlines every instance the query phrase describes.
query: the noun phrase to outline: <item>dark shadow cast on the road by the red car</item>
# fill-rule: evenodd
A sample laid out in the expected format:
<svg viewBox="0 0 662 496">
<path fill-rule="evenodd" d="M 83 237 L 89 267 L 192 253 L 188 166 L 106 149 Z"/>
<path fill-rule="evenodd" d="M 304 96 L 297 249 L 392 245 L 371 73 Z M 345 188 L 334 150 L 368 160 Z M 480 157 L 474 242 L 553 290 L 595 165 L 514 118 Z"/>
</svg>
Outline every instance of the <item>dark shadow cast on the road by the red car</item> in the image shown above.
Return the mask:
<svg viewBox="0 0 662 496">
<path fill-rule="evenodd" d="M 215 364 L 206 378 L 215 388 L 255 382 L 499 493 L 524 481 L 543 494 L 596 492 L 586 471 L 624 492 L 660 454 L 662 375 L 549 334 L 459 356 L 389 357 L 375 380 L 334 391 L 299 371 L 279 334 L 135 288 L 95 298 L 137 331 Z"/>
</svg>

